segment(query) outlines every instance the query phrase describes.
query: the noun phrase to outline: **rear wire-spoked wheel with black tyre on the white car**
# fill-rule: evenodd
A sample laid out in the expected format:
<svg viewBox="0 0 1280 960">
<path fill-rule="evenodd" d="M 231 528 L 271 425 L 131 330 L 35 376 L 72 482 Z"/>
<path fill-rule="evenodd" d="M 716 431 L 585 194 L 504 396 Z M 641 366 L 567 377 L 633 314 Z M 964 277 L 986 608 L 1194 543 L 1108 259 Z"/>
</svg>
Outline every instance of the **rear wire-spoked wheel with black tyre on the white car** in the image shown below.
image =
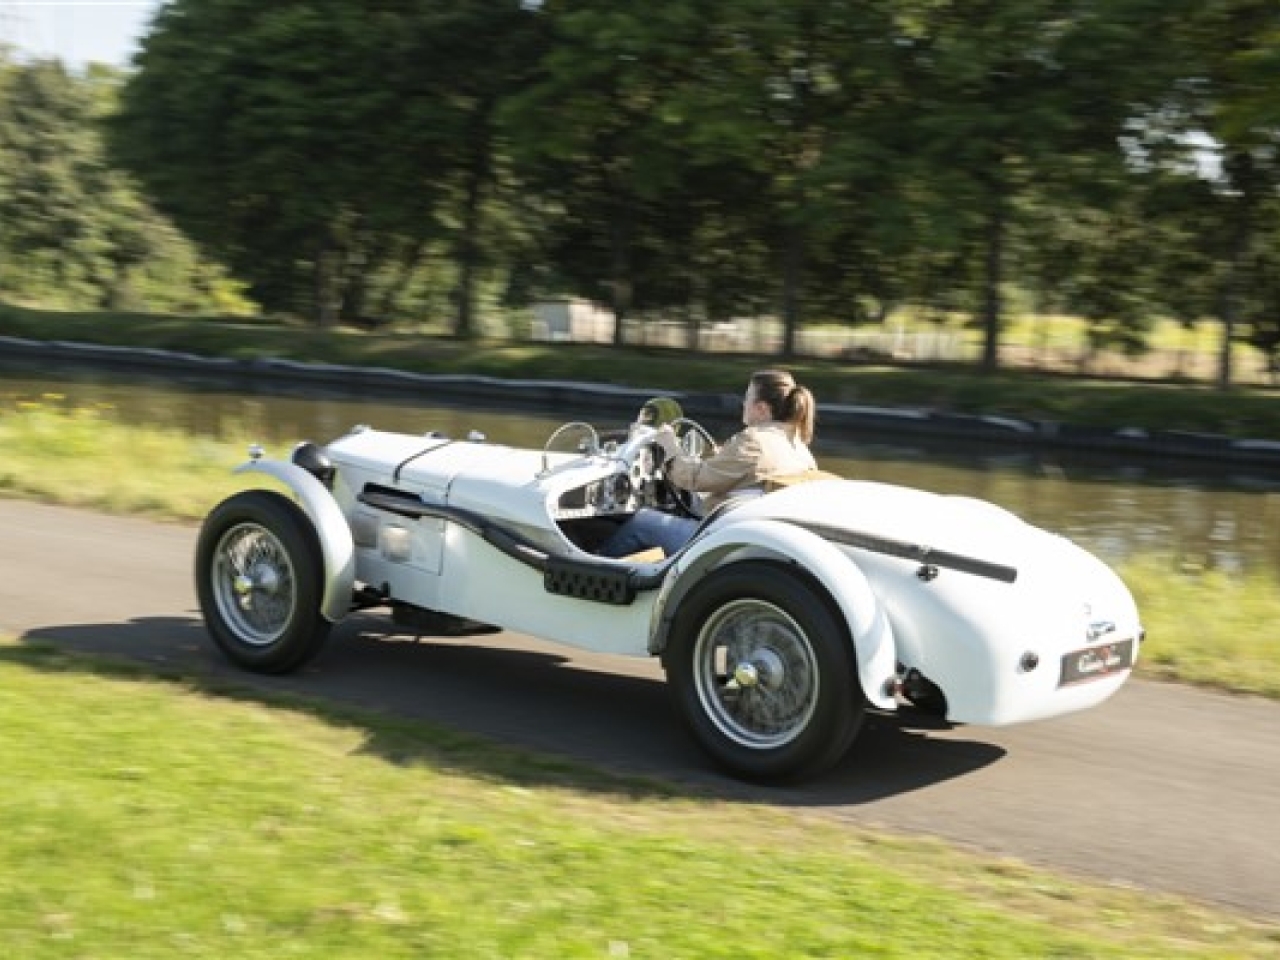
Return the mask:
<svg viewBox="0 0 1280 960">
<path fill-rule="evenodd" d="M 826 771 L 865 714 L 845 625 L 820 588 L 781 563 L 710 573 L 680 604 L 663 667 L 694 739 L 744 780 Z"/>
</svg>

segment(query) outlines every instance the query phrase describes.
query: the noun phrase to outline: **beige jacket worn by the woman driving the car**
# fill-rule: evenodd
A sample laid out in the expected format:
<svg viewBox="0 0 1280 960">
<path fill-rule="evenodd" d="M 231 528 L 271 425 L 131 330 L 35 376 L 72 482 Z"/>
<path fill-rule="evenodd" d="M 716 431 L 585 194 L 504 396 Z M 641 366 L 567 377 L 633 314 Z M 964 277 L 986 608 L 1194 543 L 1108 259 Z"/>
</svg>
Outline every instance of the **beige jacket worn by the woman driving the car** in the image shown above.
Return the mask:
<svg viewBox="0 0 1280 960">
<path fill-rule="evenodd" d="M 694 493 L 709 494 L 704 509 L 710 511 L 728 494 L 748 488 L 763 489 L 774 476 L 815 470 L 817 463 L 795 428 L 787 424 L 749 426 L 731 436 L 719 451 L 699 460 L 678 454 L 667 465 L 673 484 Z"/>
</svg>

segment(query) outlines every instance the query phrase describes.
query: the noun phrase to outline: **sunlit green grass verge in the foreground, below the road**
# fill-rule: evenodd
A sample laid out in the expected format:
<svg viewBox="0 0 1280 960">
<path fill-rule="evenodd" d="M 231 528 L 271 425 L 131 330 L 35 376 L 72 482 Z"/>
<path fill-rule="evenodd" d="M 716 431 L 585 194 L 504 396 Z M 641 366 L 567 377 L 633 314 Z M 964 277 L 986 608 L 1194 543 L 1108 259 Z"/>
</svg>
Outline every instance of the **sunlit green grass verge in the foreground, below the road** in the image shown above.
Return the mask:
<svg viewBox="0 0 1280 960">
<path fill-rule="evenodd" d="M 1265 957 L 1280 929 L 428 724 L 0 645 L 44 957 Z"/>
</svg>

